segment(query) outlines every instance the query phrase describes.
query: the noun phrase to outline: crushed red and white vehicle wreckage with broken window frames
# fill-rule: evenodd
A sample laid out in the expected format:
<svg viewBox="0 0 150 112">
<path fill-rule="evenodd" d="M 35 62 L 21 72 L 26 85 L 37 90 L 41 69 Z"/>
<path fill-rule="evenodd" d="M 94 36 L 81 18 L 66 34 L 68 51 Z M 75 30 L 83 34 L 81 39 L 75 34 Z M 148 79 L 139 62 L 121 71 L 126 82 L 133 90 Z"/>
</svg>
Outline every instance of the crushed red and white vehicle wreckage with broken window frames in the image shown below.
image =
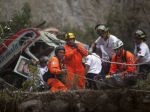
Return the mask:
<svg viewBox="0 0 150 112">
<path fill-rule="evenodd" d="M 0 78 L 20 88 L 37 70 L 37 67 L 31 66 L 31 59 L 38 61 L 41 56 L 50 57 L 55 47 L 64 43 L 54 34 L 36 28 L 22 29 L 5 38 L 0 43 Z M 25 66 L 26 63 L 30 68 Z"/>
</svg>

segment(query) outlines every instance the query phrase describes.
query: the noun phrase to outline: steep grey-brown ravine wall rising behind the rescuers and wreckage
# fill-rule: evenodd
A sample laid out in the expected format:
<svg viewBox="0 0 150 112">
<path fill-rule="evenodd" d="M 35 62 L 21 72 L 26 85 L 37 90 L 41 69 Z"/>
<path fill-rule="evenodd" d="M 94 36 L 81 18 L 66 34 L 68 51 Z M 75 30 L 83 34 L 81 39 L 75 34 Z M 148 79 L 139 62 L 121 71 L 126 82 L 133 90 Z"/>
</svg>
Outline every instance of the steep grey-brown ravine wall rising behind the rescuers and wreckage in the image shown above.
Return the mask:
<svg viewBox="0 0 150 112">
<path fill-rule="evenodd" d="M 108 23 L 112 33 L 125 42 L 137 28 L 150 36 L 149 0 L 0 0 L 0 20 L 9 20 L 25 2 L 30 4 L 33 26 L 45 20 L 45 27 L 88 32 L 87 27 L 94 30 L 97 23 Z"/>
</svg>

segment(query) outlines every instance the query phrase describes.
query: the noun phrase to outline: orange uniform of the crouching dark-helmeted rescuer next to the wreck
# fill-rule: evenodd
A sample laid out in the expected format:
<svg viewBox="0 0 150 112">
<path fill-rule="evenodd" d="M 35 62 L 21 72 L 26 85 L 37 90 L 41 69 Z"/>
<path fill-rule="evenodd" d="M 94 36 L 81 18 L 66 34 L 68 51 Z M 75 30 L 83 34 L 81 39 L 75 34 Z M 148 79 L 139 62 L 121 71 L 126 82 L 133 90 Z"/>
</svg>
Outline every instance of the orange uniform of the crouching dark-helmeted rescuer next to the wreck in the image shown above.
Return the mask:
<svg viewBox="0 0 150 112">
<path fill-rule="evenodd" d="M 60 62 L 56 56 L 50 58 L 48 62 L 48 69 L 53 76 L 48 79 L 47 83 L 51 86 L 51 91 L 67 90 L 67 87 L 57 79 L 57 76 L 61 74 Z"/>
</svg>

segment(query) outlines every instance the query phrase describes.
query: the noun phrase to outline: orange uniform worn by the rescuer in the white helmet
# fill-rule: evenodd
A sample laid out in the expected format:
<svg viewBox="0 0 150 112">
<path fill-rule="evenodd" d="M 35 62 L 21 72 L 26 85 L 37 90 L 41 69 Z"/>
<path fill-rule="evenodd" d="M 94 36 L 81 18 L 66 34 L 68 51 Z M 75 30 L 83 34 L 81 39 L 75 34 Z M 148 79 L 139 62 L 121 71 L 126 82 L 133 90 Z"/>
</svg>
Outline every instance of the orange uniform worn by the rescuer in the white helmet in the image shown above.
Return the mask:
<svg viewBox="0 0 150 112">
<path fill-rule="evenodd" d="M 119 62 L 125 64 L 135 64 L 136 58 L 135 56 L 129 51 L 122 51 L 121 56 L 116 56 L 116 53 L 112 56 L 111 62 Z M 110 66 L 110 74 L 119 73 L 119 72 L 135 72 L 136 66 L 135 65 L 121 65 L 121 64 L 114 64 L 112 63 Z"/>
</svg>

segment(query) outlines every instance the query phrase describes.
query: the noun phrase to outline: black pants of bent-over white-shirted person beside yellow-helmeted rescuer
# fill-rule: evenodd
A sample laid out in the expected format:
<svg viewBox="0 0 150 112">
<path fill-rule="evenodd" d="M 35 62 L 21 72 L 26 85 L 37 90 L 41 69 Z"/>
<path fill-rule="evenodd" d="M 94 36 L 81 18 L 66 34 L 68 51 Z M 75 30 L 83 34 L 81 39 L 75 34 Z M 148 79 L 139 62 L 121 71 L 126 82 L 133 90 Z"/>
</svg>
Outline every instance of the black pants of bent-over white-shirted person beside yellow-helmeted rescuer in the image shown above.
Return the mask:
<svg viewBox="0 0 150 112">
<path fill-rule="evenodd" d="M 86 84 L 86 86 L 87 86 L 87 88 L 88 89 L 97 89 L 97 86 L 96 86 L 96 82 L 95 82 L 95 77 L 97 77 L 98 76 L 98 74 L 94 74 L 94 73 L 88 73 L 87 74 L 87 84 Z"/>
</svg>

